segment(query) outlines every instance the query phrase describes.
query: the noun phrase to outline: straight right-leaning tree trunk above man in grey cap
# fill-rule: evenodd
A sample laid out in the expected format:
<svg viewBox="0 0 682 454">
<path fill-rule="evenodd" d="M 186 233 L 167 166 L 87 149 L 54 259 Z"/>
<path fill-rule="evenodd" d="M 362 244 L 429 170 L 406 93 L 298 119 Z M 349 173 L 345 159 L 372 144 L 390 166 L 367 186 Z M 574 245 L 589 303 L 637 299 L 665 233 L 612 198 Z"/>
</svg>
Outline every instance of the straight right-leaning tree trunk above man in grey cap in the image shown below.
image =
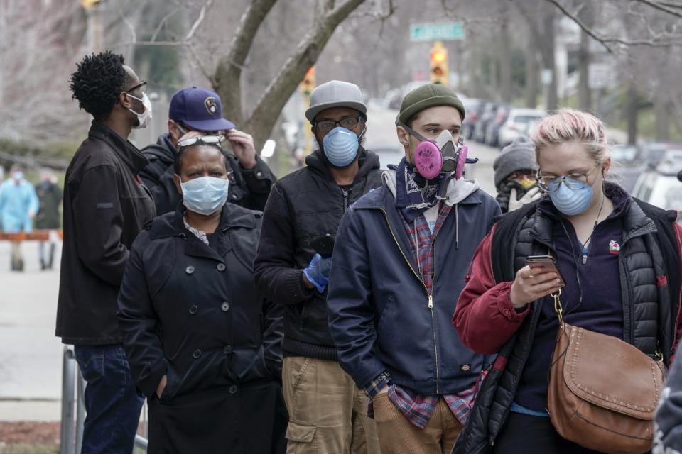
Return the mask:
<svg viewBox="0 0 682 454">
<path fill-rule="evenodd" d="M 303 37 L 293 55 L 286 60 L 245 122 L 245 129 L 254 136 L 256 149 L 270 135 L 284 104 L 298 87 L 305 72 L 315 65 L 336 27 L 363 2 L 364 0 L 345 0 L 334 9 L 328 10 L 316 21 L 315 28 Z M 331 6 L 333 3 L 327 4 Z"/>
</svg>

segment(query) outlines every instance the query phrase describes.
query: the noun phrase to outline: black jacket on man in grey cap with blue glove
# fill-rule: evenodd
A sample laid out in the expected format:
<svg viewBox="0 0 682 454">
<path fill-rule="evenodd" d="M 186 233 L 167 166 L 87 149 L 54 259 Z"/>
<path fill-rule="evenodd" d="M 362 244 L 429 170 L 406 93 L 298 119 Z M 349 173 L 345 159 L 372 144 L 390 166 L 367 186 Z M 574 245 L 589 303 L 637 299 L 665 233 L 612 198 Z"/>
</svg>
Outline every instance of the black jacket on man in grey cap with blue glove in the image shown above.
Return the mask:
<svg viewBox="0 0 682 454">
<path fill-rule="evenodd" d="M 337 360 L 327 317 L 326 294 L 303 286 L 303 268 L 315 255 L 313 240 L 335 236 L 348 206 L 381 187 L 379 157 L 360 150 L 359 172 L 347 191 L 339 187 L 320 151 L 306 167 L 273 187 L 263 212 L 263 228 L 254 262 L 256 286 L 266 297 L 286 305 L 285 354 Z"/>
</svg>

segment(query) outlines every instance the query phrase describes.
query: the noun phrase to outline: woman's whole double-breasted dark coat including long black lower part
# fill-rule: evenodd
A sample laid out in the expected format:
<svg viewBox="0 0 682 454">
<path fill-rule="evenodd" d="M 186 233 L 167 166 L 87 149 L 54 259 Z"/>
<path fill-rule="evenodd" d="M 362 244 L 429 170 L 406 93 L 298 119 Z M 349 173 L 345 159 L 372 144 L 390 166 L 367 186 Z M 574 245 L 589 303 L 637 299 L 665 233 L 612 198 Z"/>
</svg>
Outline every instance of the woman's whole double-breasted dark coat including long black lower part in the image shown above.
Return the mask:
<svg viewBox="0 0 682 454">
<path fill-rule="evenodd" d="M 226 204 L 215 250 L 185 229 L 180 206 L 131 248 L 118 319 L 148 397 L 150 453 L 284 450 L 282 309 L 254 287 L 260 218 Z"/>
</svg>

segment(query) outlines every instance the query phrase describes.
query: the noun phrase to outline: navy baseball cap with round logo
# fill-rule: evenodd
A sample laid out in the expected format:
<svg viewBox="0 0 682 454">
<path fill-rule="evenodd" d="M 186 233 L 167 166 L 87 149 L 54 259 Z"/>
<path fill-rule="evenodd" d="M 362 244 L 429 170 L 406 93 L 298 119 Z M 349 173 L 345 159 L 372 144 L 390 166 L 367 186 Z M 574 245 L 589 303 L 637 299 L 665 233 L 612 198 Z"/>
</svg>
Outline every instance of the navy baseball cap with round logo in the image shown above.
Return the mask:
<svg viewBox="0 0 682 454">
<path fill-rule="evenodd" d="M 201 87 L 183 88 L 171 98 L 168 118 L 182 121 L 197 131 L 226 131 L 234 123 L 222 118 L 220 96 Z"/>
</svg>

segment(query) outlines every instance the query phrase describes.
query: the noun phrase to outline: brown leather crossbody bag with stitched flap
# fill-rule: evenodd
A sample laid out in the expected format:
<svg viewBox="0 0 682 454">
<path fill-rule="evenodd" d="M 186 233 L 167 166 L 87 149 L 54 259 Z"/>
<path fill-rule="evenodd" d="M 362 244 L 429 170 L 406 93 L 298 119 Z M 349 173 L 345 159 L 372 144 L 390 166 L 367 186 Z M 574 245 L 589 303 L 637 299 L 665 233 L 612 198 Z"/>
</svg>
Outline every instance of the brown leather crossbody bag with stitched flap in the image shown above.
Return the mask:
<svg viewBox="0 0 682 454">
<path fill-rule="evenodd" d="M 619 338 L 565 323 L 560 293 L 552 295 L 559 319 L 547 396 L 552 425 L 583 448 L 645 453 L 654 441 L 663 362 Z"/>
</svg>

